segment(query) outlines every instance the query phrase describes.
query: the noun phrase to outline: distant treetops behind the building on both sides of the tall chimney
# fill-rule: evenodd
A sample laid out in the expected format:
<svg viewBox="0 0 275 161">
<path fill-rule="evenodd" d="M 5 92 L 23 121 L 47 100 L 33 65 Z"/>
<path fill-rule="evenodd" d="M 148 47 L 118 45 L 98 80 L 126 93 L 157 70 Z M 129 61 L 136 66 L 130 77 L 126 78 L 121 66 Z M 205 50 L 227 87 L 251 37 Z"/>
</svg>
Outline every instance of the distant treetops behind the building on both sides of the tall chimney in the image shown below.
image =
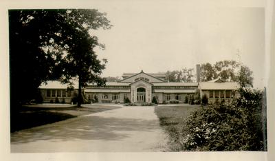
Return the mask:
<svg viewBox="0 0 275 161">
<path fill-rule="evenodd" d="M 242 63 L 225 60 L 201 64 L 200 79 L 206 82 L 220 78 L 221 81 L 238 82 L 241 87 L 253 87 L 252 74 L 251 69 Z M 166 72 L 166 80 L 170 82 L 195 82 L 195 76 L 193 68 Z"/>
</svg>

